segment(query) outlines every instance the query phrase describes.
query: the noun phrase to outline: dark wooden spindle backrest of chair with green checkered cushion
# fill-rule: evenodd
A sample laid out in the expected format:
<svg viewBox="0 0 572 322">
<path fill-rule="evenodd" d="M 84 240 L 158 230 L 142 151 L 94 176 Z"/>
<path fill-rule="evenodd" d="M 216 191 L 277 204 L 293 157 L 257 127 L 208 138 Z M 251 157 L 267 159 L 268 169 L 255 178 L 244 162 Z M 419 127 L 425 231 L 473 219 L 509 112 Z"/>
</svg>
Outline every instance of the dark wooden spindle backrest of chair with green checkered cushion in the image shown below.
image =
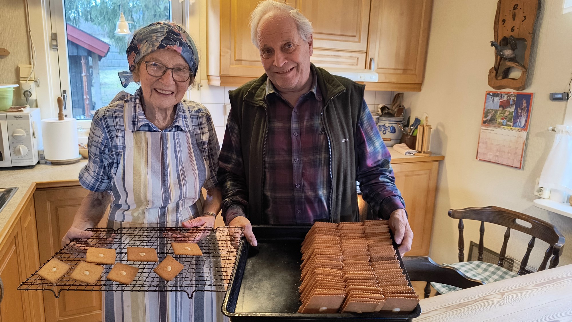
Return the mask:
<svg viewBox="0 0 572 322">
<path fill-rule="evenodd" d="M 550 268 L 554 268 L 558 265 L 560 261 L 560 256 L 562 255 L 562 250 L 565 242 L 564 236 L 556 229 L 554 225 L 549 222 L 543 221 L 531 217 L 527 214 L 518 213 L 517 211 L 504 209 L 501 207 L 488 206 L 482 208 L 465 208 L 465 209 L 451 209 L 449 210 L 449 217 L 454 219 L 459 219 L 459 261 L 464 261 L 464 239 L 463 239 L 463 219 L 472 219 L 480 221 L 480 238 L 479 238 L 479 255 L 478 260 L 483 260 L 483 248 L 484 248 L 484 222 L 495 223 L 496 225 L 501 225 L 507 227 L 505 231 L 505 239 L 502 244 L 501 252 L 499 253 L 499 261 L 496 263 L 502 266 L 506 259 L 506 248 L 509 243 L 510 230 L 515 229 L 522 231 L 525 234 L 529 234 L 532 238 L 529 241 L 528 248 L 526 250 L 525 256 L 522 258 L 521 266 L 518 270 L 519 275 L 526 274 L 526 265 L 529 262 L 530 252 L 534 248 L 534 241 L 536 238 L 547 242 L 550 246 L 545 252 L 542 264 L 539 266 L 538 270 L 545 270 L 546 264 L 548 263 L 550 256 L 553 256 L 550 260 Z M 517 221 L 526 222 L 530 227 L 523 226 Z"/>
</svg>

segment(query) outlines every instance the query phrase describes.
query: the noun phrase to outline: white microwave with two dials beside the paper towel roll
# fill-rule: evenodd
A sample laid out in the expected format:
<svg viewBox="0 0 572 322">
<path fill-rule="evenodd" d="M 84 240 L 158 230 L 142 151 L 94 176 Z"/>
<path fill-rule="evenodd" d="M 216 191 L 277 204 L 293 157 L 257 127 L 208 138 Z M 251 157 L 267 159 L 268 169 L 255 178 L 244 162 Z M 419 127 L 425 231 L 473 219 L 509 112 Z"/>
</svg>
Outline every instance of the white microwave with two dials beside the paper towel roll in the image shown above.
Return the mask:
<svg viewBox="0 0 572 322">
<path fill-rule="evenodd" d="M 42 148 L 39 108 L 0 113 L 0 167 L 33 166 Z"/>
</svg>

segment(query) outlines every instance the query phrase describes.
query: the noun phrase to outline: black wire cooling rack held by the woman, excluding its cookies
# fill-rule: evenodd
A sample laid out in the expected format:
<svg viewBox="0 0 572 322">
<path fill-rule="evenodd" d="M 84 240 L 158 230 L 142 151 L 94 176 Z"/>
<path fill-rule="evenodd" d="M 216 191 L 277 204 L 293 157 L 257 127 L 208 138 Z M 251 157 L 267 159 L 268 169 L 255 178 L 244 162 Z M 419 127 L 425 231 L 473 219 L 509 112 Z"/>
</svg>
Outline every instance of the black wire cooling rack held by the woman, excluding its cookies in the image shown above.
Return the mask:
<svg viewBox="0 0 572 322">
<path fill-rule="evenodd" d="M 72 266 L 72 269 L 61 280 L 57 283 L 50 283 L 37 274 L 38 269 L 23 281 L 18 289 L 50 290 L 55 297 L 59 297 L 62 290 L 185 292 L 189 299 L 193 297 L 194 292 L 225 292 L 231 283 L 236 257 L 241 248 L 240 244 L 244 242 L 242 227 L 120 228 L 117 230 L 94 228 L 90 230 L 93 231 L 91 238 L 72 241 L 51 257 Z M 171 242 L 194 242 L 201 248 L 202 256 L 174 255 Z M 104 272 L 94 284 L 72 280 L 70 275 L 81 261 L 85 261 L 88 247 L 115 249 L 116 262 L 139 268 L 133 282 L 125 285 L 108 280 L 106 276 L 113 265 L 102 265 Z M 185 268 L 173 281 L 165 281 L 153 272 L 159 262 L 128 261 L 127 247 L 154 248 L 157 251 L 159 262 L 170 255 Z"/>
</svg>

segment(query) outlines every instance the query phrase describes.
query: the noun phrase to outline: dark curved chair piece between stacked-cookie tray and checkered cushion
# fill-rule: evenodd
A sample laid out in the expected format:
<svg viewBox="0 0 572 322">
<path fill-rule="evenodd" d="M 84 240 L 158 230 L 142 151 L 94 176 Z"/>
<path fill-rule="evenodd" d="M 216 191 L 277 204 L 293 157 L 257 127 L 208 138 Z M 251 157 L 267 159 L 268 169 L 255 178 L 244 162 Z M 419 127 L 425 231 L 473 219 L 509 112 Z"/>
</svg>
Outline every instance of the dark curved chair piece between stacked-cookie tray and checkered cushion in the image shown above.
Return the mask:
<svg viewBox="0 0 572 322">
<path fill-rule="evenodd" d="M 482 281 L 467 277 L 454 267 L 436 264 L 427 256 L 403 256 L 403 264 L 412 281 L 427 282 L 424 289 L 425 298 L 429 297 L 431 293 L 431 282 L 452 285 L 462 289 L 484 284 Z"/>
</svg>

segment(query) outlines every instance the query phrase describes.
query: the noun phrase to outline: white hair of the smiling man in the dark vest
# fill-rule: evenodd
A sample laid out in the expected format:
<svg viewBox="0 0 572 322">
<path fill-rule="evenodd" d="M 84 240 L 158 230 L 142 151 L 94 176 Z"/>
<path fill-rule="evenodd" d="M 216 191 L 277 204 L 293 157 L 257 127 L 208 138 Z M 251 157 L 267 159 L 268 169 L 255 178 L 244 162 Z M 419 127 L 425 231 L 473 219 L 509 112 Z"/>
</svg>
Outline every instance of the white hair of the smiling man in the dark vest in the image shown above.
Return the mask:
<svg viewBox="0 0 572 322">
<path fill-rule="evenodd" d="M 256 48 L 260 48 L 260 44 L 258 43 L 258 27 L 260 25 L 260 21 L 270 13 L 282 13 L 286 16 L 292 17 L 296 23 L 296 27 L 298 28 L 300 38 L 304 41 L 308 41 L 314 32 L 312 23 L 308 18 L 304 17 L 300 10 L 285 3 L 276 2 L 274 0 L 264 0 L 256 6 L 251 14 L 251 40 L 252 44 L 254 44 Z"/>
</svg>

